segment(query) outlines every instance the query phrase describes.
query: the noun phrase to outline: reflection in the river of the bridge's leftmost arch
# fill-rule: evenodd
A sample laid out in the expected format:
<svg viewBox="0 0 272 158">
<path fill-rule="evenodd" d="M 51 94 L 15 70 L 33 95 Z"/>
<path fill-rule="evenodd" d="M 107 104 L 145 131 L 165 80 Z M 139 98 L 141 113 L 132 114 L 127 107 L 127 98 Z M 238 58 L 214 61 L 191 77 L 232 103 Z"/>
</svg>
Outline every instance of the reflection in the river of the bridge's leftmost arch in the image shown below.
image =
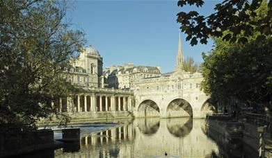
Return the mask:
<svg viewBox="0 0 272 158">
<path fill-rule="evenodd" d="M 143 134 L 155 134 L 159 130 L 159 125 L 159 118 L 138 119 L 138 128 Z"/>
</svg>

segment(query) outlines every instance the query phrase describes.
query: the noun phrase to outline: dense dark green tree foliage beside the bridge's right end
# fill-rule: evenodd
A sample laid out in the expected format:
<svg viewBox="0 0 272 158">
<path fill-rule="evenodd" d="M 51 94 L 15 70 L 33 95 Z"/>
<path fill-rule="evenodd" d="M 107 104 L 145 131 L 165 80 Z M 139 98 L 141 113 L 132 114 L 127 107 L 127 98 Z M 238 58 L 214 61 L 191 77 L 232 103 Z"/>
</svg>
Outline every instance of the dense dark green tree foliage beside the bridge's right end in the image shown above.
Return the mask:
<svg viewBox="0 0 272 158">
<path fill-rule="evenodd" d="M 237 98 L 248 103 L 268 104 L 272 100 L 272 38 L 233 44 L 222 38 L 215 49 L 203 54 L 202 88 L 218 100 Z"/>
</svg>

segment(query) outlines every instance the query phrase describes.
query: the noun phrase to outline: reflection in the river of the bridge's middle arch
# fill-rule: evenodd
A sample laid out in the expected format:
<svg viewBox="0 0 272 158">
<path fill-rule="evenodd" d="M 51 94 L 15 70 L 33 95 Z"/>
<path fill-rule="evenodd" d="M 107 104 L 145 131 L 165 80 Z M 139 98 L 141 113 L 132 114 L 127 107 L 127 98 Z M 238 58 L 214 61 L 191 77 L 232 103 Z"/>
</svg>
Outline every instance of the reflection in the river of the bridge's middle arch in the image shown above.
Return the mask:
<svg viewBox="0 0 272 158">
<path fill-rule="evenodd" d="M 175 137 L 186 137 L 193 129 L 193 119 L 191 117 L 184 119 L 168 119 L 167 129 L 170 134 L 173 134 Z"/>
</svg>

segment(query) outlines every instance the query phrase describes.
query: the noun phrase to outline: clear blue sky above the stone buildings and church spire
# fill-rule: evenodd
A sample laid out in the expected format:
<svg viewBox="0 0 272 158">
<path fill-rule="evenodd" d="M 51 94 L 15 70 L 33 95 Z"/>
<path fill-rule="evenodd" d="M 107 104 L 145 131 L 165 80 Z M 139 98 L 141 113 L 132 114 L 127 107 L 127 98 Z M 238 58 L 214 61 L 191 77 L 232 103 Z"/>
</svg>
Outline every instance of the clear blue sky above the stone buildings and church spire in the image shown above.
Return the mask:
<svg viewBox="0 0 272 158">
<path fill-rule="evenodd" d="M 177 1 L 83 1 L 69 10 L 72 28 L 86 33 L 87 44 L 103 57 L 103 67 L 133 63 L 160 66 L 163 73 L 173 71 L 177 55 L 179 26 L 177 13 L 197 10 L 202 15 L 214 12 L 220 1 L 205 1 L 205 6 L 180 8 Z M 191 46 L 181 33 L 184 59 L 191 56 L 200 64 L 202 52 L 211 50 L 213 42 Z"/>
</svg>

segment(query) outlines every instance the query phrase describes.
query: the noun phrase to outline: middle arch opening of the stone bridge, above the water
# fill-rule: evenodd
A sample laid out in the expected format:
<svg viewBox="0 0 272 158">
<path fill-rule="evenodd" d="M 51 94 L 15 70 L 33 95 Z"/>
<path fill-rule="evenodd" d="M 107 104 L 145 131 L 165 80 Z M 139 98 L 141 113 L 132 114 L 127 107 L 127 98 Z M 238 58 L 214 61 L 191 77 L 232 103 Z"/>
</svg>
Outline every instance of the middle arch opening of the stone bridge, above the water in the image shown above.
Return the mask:
<svg viewBox="0 0 272 158">
<path fill-rule="evenodd" d="M 167 117 L 193 117 L 193 108 L 182 98 L 172 100 L 166 109 Z"/>
</svg>

